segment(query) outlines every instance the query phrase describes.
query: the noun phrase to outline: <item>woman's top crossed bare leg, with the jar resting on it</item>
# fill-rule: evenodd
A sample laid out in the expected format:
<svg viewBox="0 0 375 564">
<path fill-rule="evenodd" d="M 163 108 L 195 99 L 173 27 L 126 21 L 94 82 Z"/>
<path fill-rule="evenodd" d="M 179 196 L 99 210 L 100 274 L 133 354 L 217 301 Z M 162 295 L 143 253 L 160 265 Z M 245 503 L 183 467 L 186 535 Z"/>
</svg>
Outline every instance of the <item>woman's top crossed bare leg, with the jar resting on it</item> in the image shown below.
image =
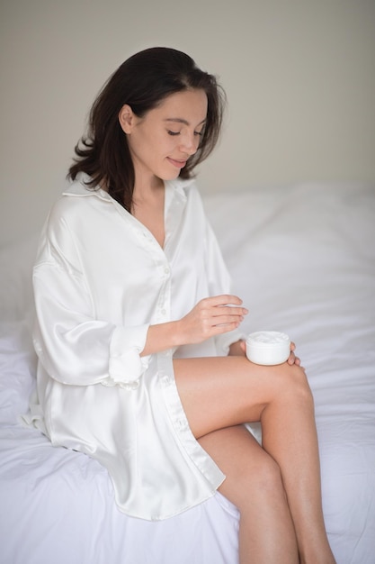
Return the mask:
<svg viewBox="0 0 375 564">
<path fill-rule="evenodd" d="M 263 449 L 281 470 L 300 561 L 334 563 L 323 521 L 314 405 L 303 369 L 219 357 L 175 359 L 174 374 L 198 439 L 219 429 L 261 421 Z"/>
</svg>

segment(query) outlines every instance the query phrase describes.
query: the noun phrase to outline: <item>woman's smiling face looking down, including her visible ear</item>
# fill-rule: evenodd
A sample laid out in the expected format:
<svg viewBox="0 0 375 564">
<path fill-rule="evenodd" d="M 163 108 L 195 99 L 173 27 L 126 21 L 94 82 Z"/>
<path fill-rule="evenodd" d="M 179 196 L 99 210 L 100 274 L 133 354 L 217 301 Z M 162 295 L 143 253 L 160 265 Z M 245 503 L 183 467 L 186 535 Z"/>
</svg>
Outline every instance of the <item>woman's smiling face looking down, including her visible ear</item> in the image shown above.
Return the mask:
<svg viewBox="0 0 375 564">
<path fill-rule="evenodd" d="M 201 141 L 207 115 L 204 90 L 184 90 L 168 96 L 142 118 L 124 105 L 119 114 L 128 136 L 136 183 L 178 177 Z"/>
</svg>

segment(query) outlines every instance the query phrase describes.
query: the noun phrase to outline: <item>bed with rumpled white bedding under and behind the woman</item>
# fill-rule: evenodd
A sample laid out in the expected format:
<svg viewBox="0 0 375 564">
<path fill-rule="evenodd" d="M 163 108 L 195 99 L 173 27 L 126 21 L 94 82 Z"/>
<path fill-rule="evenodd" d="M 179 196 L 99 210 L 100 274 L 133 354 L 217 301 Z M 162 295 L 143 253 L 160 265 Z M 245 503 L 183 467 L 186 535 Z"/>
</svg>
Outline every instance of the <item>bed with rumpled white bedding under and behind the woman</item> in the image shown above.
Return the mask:
<svg viewBox="0 0 375 564">
<path fill-rule="evenodd" d="M 308 370 L 337 563 L 374 564 L 375 186 L 275 186 L 204 200 L 250 310 L 244 330 L 289 333 Z M 224 497 L 165 522 L 129 518 L 96 461 L 22 427 L 35 373 L 36 241 L 0 252 L 0 561 L 236 564 L 237 509 Z"/>
</svg>

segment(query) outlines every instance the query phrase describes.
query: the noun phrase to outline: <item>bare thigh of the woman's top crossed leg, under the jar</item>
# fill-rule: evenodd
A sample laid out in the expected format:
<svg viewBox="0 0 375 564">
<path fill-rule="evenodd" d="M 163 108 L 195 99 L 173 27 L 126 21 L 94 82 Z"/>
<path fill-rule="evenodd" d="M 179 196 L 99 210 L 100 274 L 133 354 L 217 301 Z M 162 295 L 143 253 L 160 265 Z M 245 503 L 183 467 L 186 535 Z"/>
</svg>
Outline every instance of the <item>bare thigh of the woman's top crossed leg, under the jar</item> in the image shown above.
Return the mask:
<svg viewBox="0 0 375 564">
<path fill-rule="evenodd" d="M 265 367 L 246 357 L 174 359 L 174 377 L 196 438 L 260 421 L 273 399 L 307 386 L 304 370 L 297 365 Z"/>
</svg>

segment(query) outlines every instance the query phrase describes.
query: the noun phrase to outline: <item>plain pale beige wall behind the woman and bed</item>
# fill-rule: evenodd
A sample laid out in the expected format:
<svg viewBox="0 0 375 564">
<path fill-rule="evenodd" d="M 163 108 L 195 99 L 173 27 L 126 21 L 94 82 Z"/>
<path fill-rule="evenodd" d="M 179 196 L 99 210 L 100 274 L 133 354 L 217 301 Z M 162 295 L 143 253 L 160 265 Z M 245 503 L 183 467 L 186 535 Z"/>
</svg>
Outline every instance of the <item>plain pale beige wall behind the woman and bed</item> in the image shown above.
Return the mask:
<svg viewBox="0 0 375 564">
<path fill-rule="evenodd" d="M 1 0 L 1 243 L 40 229 L 96 92 L 154 45 L 228 94 L 202 191 L 375 181 L 374 0 Z"/>
</svg>

